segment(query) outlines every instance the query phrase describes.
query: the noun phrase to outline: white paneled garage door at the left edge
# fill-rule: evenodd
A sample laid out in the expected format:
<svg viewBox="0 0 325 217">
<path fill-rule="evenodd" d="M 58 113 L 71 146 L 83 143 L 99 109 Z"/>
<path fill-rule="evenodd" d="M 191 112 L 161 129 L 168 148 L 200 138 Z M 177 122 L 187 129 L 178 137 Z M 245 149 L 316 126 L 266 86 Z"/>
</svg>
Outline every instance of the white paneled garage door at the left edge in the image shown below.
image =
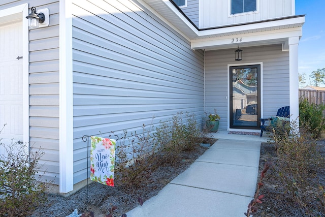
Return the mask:
<svg viewBox="0 0 325 217">
<path fill-rule="evenodd" d="M 22 22 L 0 24 L 0 134 L 23 141 Z M 3 151 L 3 150 L 0 150 Z"/>
</svg>

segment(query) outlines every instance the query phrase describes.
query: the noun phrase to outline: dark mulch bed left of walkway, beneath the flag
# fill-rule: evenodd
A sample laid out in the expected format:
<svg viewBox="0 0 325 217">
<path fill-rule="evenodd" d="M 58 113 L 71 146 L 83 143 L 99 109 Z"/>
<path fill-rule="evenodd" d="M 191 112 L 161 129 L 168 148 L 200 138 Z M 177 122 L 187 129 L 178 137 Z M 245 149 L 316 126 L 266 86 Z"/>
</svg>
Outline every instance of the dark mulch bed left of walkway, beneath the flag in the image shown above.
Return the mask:
<svg viewBox="0 0 325 217">
<path fill-rule="evenodd" d="M 216 139 L 205 139 L 204 143 L 213 144 Z M 47 216 L 67 216 L 76 208 L 78 213 L 87 210 L 94 212 L 95 217 L 105 216 L 109 208 L 117 206 L 114 215 L 121 216 L 149 198 L 158 194 L 178 174 L 185 171 L 197 158 L 199 158 L 208 147 L 197 145 L 191 151 L 183 151 L 179 156 L 179 161 L 173 164 L 159 166 L 152 171 L 149 176 L 141 178 L 139 184 L 134 187 L 124 187 L 119 185 L 115 179 L 115 187 L 108 187 L 98 182 L 88 185 L 88 206 L 86 203 L 86 188 L 69 197 L 59 195 L 46 195 L 48 200 L 42 207 L 38 207 L 32 217 Z"/>
</svg>

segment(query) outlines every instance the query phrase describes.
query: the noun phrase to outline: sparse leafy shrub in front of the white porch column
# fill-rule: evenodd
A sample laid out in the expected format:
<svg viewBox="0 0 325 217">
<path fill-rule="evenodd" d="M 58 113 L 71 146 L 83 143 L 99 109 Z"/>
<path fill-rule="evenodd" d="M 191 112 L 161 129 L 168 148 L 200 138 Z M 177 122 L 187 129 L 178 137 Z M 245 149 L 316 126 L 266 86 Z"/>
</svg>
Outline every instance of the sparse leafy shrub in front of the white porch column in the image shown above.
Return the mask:
<svg viewBox="0 0 325 217">
<path fill-rule="evenodd" d="M 311 204 L 315 201 L 312 191 L 317 186 L 317 168 L 322 167 L 322 159 L 317 150 L 317 143 L 309 129 L 301 126 L 298 121 L 291 122 L 289 131 L 281 134 L 273 130 L 277 161 L 276 167 L 286 203 L 291 207 L 299 205 L 301 216 L 312 215 Z M 306 215 L 309 216 L 309 215 Z"/>
</svg>

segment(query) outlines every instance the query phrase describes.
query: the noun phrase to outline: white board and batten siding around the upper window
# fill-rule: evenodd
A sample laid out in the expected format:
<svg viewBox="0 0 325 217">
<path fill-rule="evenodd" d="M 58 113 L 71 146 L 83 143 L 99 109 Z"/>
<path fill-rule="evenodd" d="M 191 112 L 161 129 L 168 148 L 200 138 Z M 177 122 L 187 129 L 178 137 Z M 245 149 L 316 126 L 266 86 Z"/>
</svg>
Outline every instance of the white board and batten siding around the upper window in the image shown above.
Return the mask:
<svg viewBox="0 0 325 217">
<path fill-rule="evenodd" d="M 200 28 L 295 15 L 295 0 L 256 0 L 257 11 L 231 15 L 231 0 L 200 1 Z"/>
</svg>

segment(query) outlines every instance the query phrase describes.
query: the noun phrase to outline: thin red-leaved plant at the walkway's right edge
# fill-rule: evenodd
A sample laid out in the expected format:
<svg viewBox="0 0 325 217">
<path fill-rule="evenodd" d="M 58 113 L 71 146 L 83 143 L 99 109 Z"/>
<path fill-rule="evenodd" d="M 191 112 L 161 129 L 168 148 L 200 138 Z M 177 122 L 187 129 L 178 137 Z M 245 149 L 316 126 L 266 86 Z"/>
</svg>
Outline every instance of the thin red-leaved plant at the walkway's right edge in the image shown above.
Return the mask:
<svg viewBox="0 0 325 217">
<path fill-rule="evenodd" d="M 268 169 L 271 167 L 271 163 L 267 162 L 264 165 L 264 169 L 261 173 L 261 177 L 259 177 L 259 181 L 257 183 L 257 189 L 256 189 L 256 193 L 254 195 L 254 199 L 250 201 L 250 203 L 248 204 L 248 209 L 247 212 L 245 212 L 244 214 L 249 217 L 250 215 L 253 215 L 255 212 L 257 212 L 257 203 L 262 203 L 262 199 L 264 198 L 264 195 L 258 195 L 259 194 L 259 190 L 262 188 L 262 186 L 264 185 L 262 180 L 265 177 L 266 172 L 268 171 Z"/>
</svg>

